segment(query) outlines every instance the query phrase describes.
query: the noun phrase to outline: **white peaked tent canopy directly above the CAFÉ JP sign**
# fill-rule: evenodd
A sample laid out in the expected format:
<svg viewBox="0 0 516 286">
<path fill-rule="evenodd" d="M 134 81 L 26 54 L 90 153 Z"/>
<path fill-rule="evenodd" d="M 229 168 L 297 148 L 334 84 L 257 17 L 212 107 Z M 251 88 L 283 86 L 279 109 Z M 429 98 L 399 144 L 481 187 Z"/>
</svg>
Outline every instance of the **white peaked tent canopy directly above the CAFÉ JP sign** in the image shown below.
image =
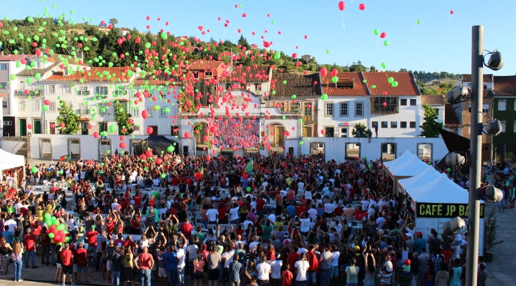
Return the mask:
<svg viewBox="0 0 516 286">
<path fill-rule="evenodd" d="M 416 203 L 467 204 L 469 201 L 468 192 L 453 183 L 444 173 L 432 183 L 419 188 L 407 188 L 407 193 Z"/>
</svg>

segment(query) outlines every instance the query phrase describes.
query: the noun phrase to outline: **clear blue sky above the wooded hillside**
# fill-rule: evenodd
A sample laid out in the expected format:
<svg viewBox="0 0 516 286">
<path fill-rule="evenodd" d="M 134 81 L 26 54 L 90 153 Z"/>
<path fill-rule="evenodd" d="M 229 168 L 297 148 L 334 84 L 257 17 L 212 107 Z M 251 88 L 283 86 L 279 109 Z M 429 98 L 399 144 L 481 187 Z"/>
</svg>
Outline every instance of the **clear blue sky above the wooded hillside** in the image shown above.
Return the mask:
<svg viewBox="0 0 516 286">
<path fill-rule="evenodd" d="M 516 73 L 516 40 L 510 32 L 516 24 L 516 1 L 353 0 L 345 1 L 342 14 L 337 8 L 338 2 L 0 0 L 0 16 L 20 19 L 43 14 L 48 7 L 54 15 L 66 13 L 66 19 L 70 17 L 69 11 L 74 10 L 71 17 L 77 22 L 82 22 L 83 16 L 93 17 L 96 24 L 114 17 L 119 20 L 119 27 L 144 31 L 150 24 L 154 32 L 165 29 L 176 36 L 197 36 L 202 40 L 224 38 L 234 42 L 240 37 L 237 30 L 241 29 L 249 43 L 261 45 L 260 37 L 265 36 L 266 40 L 273 41 L 271 48 L 287 54 L 311 54 L 319 63 L 345 65 L 361 60 L 365 66 L 377 68 L 385 62 L 389 70 L 407 68 L 450 73 L 471 73 L 471 26 L 483 24 L 485 49 L 499 50 L 505 60 L 504 68 L 495 75 Z M 358 9 L 360 3 L 365 3 L 365 10 Z M 235 8 L 235 4 L 242 7 Z M 455 13 L 450 15 L 450 10 Z M 247 17 L 242 17 L 243 13 L 247 13 Z M 146 20 L 148 15 L 150 21 Z M 230 21 L 227 28 L 225 20 Z M 421 20 L 419 25 L 418 20 Z M 166 21 L 169 26 L 165 26 Z M 203 36 L 197 29 L 199 26 L 210 32 Z M 386 32 L 387 37 L 375 36 L 374 29 Z M 256 32 L 255 36 L 252 31 Z M 389 40 L 390 45 L 384 46 L 383 40 Z M 485 73 L 491 72 L 485 70 Z"/>
</svg>

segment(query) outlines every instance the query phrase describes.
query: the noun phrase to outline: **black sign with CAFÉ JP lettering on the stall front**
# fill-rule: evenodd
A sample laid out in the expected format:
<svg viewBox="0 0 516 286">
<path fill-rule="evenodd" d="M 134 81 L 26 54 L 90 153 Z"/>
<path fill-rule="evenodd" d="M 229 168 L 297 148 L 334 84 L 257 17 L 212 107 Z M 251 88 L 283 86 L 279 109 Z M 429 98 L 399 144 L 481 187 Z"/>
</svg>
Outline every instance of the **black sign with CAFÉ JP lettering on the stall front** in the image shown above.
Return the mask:
<svg viewBox="0 0 516 286">
<path fill-rule="evenodd" d="M 416 202 L 418 218 L 455 218 L 468 216 L 468 204 L 439 204 Z M 480 204 L 480 218 L 484 218 L 484 204 Z"/>
</svg>

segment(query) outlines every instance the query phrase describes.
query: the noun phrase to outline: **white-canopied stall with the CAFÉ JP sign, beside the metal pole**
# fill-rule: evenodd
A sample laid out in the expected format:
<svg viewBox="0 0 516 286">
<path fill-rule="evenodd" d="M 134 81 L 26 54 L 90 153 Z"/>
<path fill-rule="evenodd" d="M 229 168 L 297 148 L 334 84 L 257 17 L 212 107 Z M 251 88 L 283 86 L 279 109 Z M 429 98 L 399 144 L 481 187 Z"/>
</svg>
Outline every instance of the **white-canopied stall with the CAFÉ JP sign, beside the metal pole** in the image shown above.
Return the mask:
<svg viewBox="0 0 516 286">
<path fill-rule="evenodd" d="M 405 192 L 405 198 L 415 213 L 415 231 L 422 232 L 423 238 L 430 234 L 432 228 L 441 234 L 443 223 L 452 218 L 460 216 L 467 220 L 468 217 L 467 190 L 453 183 L 447 174 L 430 169 L 425 174 L 400 179 L 400 188 Z M 422 182 L 415 183 L 418 179 Z M 484 206 L 484 202 L 480 201 L 480 254 L 483 253 Z"/>
</svg>

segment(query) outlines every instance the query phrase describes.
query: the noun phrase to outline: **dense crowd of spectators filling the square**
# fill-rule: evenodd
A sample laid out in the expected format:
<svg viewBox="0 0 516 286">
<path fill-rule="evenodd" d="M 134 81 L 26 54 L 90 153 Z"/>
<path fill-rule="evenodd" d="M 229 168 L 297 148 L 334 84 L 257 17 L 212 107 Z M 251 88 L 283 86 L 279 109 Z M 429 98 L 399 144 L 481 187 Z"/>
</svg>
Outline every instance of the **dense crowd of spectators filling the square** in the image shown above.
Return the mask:
<svg viewBox="0 0 516 286">
<path fill-rule="evenodd" d="M 89 267 L 112 285 L 464 285 L 467 236 L 423 237 L 380 166 L 169 154 L 38 165 L 12 196 L 2 183 L 0 275 L 13 264 L 22 280 L 25 264 L 62 285 L 89 283 Z M 35 177 L 52 188 L 38 193 Z M 68 242 L 53 243 L 47 214 Z"/>
</svg>

